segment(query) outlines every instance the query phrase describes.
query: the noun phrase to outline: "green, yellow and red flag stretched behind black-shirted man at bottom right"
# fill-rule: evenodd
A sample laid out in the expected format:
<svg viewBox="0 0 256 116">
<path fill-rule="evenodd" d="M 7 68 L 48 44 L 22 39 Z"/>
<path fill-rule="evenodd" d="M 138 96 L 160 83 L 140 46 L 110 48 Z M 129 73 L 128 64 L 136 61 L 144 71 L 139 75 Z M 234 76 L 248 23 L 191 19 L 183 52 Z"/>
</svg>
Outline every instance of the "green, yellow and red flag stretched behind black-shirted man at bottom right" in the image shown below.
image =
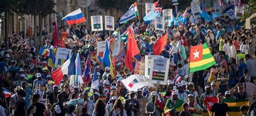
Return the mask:
<svg viewBox="0 0 256 116">
<path fill-rule="evenodd" d="M 240 110 L 239 110 L 241 105 L 245 105 L 247 107 L 250 106 L 248 100 L 224 99 L 223 102 L 226 103 L 228 105 L 228 107 L 230 107 L 230 111 L 228 111 L 228 113 L 230 115 L 241 115 Z"/>
</svg>

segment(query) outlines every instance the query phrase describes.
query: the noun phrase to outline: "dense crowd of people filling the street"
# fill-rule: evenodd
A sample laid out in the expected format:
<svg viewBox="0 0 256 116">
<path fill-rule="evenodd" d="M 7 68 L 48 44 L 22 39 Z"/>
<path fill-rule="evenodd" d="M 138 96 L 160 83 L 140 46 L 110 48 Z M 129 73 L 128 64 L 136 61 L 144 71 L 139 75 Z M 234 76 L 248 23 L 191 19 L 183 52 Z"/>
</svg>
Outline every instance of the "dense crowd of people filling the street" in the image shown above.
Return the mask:
<svg viewBox="0 0 256 116">
<path fill-rule="evenodd" d="M 161 56 L 171 59 L 166 85 L 127 91 L 122 80 L 134 71 L 125 67 L 125 55 L 113 58 L 116 76 L 110 74 L 110 67 L 104 67 L 97 60 L 91 63 L 90 77 L 96 69 L 100 82 L 98 87 L 92 88 L 93 92 L 90 92 L 91 83 L 70 86 L 68 75 L 63 77 L 61 84 L 52 84 L 51 72 L 56 68 L 48 66 L 48 57 L 38 55 L 36 46 L 26 42 L 23 33 L 13 33 L 8 50 L 5 43 L 1 43 L 0 115 L 183 116 L 210 112 L 219 116 L 230 111 L 223 102 L 224 98 L 248 100 L 250 107 L 242 105 L 241 114 L 256 115 L 256 26 L 246 30 L 242 23 L 225 19 L 210 23 L 200 19 L 197 24 L 188 22 L 171 27 L 165 23 L 165 31 L 155 30 L 152 24 L 145 22 L 130 21 L 115 26 L 122 34 L 129 25 L 140 51 L 137 60 L 152 55 L 152 46 L 165 32 L 169 32 L 167 45 L 161 52 Z M 113 33 L 91 32 L 88 27 L 74 24 L 58 30 L 59 38 L 65 39 L 65 47 L 75 54 L 79 52 L 82 72 L 89 52 L 96 54 L 97 42 L 109 41 L 111 51 L 111 45 L 117 40 Z M 127 37 L 123 37 L 119 54 L 126 50 Z M 46 39 L 44 49 L 54 51 L 52 41 Z M 206 70 L 189 73 L 190 46 L 204 43 L 207 43 L 216 64 Z M 174 82 L 177 76 L 182 79 Z M 11 97 L 6 97 L 6 91 L 13 93 Z M 165 94 L 161 94 L 163 92 Z M 218 98 L 210 111 L 204 103 L 207 97 Z"/>
</svg>

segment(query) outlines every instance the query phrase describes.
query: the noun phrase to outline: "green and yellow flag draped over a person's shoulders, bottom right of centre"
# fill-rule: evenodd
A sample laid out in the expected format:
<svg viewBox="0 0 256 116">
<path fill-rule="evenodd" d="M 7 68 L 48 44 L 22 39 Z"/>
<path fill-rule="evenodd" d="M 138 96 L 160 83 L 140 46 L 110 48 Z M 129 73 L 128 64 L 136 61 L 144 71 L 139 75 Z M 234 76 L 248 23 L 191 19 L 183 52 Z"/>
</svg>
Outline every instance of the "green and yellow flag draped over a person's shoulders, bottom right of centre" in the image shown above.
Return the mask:
<svg viewBox="0 0 256 116">
<path fill-rule="evenodd" d="M 177 103 L 175 105 L 172 104 L 171 99 L 168 99 L 166 101 L 166 105 L 164 107 L 164 113 L 169 113 L 171 110 L 175 110 L 176 112 L 180 112 L 181 110 L 183 110 L 183 101 L 178 99 Z"/>
</svg>

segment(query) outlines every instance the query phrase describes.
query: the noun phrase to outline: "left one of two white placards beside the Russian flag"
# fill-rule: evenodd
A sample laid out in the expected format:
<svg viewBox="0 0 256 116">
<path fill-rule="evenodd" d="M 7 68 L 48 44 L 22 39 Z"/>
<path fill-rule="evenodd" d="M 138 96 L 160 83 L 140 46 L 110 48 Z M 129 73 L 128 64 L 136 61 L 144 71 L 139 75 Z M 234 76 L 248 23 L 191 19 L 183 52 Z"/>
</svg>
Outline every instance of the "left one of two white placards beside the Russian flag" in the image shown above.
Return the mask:
<svg viewBox="0 0 256 116">
<path fill-rule="evenodd" d="M 102 16 L 91 16 L 92 31 L 103 31 Z"/>
</svg>

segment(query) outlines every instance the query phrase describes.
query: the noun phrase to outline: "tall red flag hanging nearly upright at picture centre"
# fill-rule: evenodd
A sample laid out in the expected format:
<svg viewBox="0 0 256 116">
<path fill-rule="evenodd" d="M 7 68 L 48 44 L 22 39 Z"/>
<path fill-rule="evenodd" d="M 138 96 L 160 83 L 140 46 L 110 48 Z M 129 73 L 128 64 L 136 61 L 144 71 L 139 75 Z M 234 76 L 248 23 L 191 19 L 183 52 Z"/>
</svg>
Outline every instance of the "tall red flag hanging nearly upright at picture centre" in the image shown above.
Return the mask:
<svg viewBox="0 0 256 116">
<path fill-rule="evenodd" d="M 132 29 L 131 27 L 129 27 L 127 50 L 126 50 L 126 56 L 125 56 L 125 66 L 128 67 L 130 70 L 133 70 L 132 58 L 136 54 L 139 54 L 138 45 L 134 38 Z"/>
</svg>

